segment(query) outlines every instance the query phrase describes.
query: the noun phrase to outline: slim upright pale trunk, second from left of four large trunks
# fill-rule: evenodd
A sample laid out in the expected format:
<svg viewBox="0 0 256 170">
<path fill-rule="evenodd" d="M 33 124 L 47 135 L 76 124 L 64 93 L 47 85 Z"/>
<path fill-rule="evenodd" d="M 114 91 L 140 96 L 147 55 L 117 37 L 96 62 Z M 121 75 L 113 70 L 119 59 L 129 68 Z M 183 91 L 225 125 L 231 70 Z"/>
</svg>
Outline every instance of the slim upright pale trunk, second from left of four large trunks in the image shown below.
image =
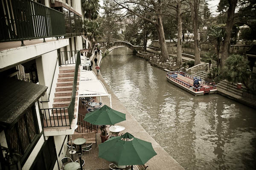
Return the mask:
<svg viewBox="0 0 256 170">
<path fill-rule="evenodd" d="M 181 3 L 180 0 L 177 2 L 177 23 L 178 23 L 178 34 L 177 34 L 177 65 L 182 64 L 181 48 L 182 48 L 182 21 L 181 21 Z"/>
</svg>

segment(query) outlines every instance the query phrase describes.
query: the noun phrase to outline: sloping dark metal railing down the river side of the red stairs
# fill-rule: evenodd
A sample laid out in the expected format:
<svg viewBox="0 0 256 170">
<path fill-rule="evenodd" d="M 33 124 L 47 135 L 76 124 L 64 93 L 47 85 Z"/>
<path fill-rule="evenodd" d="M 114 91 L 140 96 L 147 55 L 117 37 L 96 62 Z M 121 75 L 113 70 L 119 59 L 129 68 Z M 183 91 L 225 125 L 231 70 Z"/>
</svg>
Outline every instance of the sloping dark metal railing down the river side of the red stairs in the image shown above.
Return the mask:
<svg viewBox="0 0 256 170">
<path fill-rule="evenodd" d="M 75 101 L 76 101 L 76 85 L 77 85 L 78 69 L 79 69 L 80 63 L 81 63 L 80 51 L 78 51 L 76 54 L 76 67 L 75 67 L 75 74 L 74 74 L 74 80 L 73 80 L 72 97 L 71 97 L 71 102 L 68 105 L 68 115 L 69 115 L 70 124 L 72 122 L 72 119 L 74 118 L 74 108 L 75 108 Z"/>
</svg>

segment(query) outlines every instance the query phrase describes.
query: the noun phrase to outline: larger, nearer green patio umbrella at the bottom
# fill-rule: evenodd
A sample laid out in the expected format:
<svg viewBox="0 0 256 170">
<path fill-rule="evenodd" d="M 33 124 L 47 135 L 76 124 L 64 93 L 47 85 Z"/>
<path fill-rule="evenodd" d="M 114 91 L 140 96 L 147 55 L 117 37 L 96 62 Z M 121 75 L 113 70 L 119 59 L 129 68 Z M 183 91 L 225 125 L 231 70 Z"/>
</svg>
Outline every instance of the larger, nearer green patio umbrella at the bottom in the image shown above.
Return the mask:
<svg viewBox="0 0 256 170">
<path fill-rule="evenodd" d="M 145 164 L 155 155 L 150 142 L 137 139 L 128 132 L 99 144 L 99 157 L 118 166 Z"/>
</svg>

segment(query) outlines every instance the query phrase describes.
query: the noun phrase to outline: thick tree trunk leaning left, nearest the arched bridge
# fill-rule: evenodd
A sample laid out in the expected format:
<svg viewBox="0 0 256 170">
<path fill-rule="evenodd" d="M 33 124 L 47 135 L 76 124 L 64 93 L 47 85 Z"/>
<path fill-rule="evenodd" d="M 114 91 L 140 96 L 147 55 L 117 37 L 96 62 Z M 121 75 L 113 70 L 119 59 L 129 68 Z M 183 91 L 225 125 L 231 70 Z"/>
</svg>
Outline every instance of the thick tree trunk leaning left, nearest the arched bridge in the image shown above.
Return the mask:
<svg viewBox="0 0 256 170">
<path fill-rule="evenodd" d="M 162 62 L 166 62 L 166 60 L 169 57 L 167 47 L 166 47 L 166 42 L 165 42 L 165 36 L 164 36 L 164 31 L 163 31 L 163 23 L 162 23 L 162 16 L 161 10 L 157 10 L 159 14 L 157 14 L 157 22 L 156 22 L 156 28 L 157 28 L 157 35 L 158 35 L 158 40 L 161 48 L 161 53 L 162 53 Z"/>
</svg>

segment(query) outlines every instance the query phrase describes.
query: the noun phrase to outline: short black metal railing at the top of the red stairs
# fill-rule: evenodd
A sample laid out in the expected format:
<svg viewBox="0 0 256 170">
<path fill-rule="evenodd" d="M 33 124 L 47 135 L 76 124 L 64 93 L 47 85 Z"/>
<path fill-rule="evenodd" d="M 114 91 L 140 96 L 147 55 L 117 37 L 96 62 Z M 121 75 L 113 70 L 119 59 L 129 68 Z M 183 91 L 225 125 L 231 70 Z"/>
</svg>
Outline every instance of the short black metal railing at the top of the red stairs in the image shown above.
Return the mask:
<svg viewBox="0 0 256 170">
<path fill-rule="evenodd" d="M 77 52 L 78 51 L 60 51 L 60 52 L 58 52 L 59 66 L 68 65 L 68 64 L 75 64 L 76 63 L 76 53 Z M 80 52 L 79 52 L 79 55 L 80 55 Z"/>
</svg>

